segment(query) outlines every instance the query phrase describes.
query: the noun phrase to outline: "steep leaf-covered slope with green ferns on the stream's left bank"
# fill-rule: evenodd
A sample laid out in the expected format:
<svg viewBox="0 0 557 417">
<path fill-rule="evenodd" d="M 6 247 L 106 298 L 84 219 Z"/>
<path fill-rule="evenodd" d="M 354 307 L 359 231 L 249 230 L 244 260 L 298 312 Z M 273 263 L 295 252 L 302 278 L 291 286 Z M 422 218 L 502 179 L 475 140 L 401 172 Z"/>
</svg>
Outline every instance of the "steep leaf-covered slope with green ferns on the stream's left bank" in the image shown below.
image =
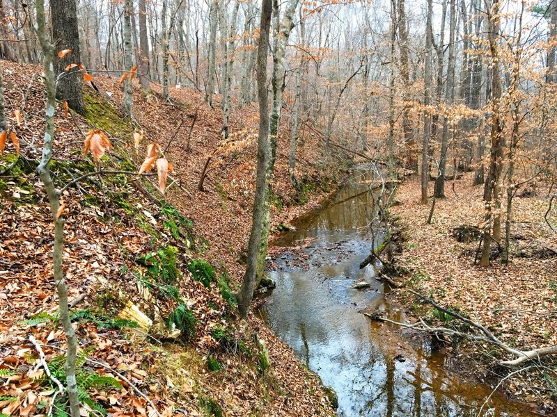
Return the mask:
<svg viewBox="0 0 557 417">
<path fill-rule="evenodd" d="M 57 387 L 30 341 L 38 340 L 63 381 L 52 216 L 36 175 L 45 129 L 42 70 L 1 66 L 6 115 L 21 154 L 8 144 L 0 156 L 0 413 L 64 416 L 63 395 L 50 410 Z M 135 80 L 134 120 L 123 120 L 118 79 L 94 82 L 100 92 L 86 88 L 85 117 L 66 117 L 62 104 L 56 109 L 56 186 L 99 168 L 136 172 L 148 142 L 164 149 L 177 181 L 161 195 L 148 177 L 93 176 L 63 193 L 63 262 L 79 340 L 82 415 L 156 416 L 152 406 L 162 416 L 334 414 L 319 378 L 292 350 L 253 314 L 244 325 L 235 313 L 232 294 L 251 227 L 257 107 L 235 107 L 232 135 L 223 143 L 221 111 L 204 104 L 202 92 L 171 89 L 173 101 L 165 103 L 159 85 L 146 94 Z M 84 132 L 93 128 L 114 146 L 96 165 L 82 153 Z M 132 134 L 140 129 L 136 152 Z M 338 165 L 317 163 L 317 138 L 301 134 L 301 191 L 290 184 L 288 135 L 279 137 L 273 231 L 317 206 L 343 176 Z"/>
</svg>

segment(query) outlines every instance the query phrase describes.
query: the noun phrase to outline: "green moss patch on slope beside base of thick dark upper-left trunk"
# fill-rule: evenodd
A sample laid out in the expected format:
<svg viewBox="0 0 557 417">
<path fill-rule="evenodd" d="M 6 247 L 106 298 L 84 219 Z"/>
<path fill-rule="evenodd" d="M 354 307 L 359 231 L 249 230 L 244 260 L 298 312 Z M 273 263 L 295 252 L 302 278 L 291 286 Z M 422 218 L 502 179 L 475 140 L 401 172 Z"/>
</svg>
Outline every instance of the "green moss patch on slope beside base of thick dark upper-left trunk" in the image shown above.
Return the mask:
<svg viewBox="0 0 557 417">
<path fill-rule="evenodd" d="M 131 120 L 124 120 L 107 100 L 95 94 L 85 93 L 84 101 L 84 117 L 97 129 L 102 129 L 112 136 L 125 136 L 134 131 Z"/>
</svg>

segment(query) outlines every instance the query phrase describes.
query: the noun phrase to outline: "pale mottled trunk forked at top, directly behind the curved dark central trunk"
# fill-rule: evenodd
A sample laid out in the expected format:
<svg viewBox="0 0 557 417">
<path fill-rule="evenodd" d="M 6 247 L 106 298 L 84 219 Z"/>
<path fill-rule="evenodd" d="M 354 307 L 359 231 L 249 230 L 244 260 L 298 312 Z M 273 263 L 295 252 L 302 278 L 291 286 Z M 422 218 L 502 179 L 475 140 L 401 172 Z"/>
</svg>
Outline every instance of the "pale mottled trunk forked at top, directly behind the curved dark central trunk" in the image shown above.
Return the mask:
<svg viewBox="0 0 557 417">
<path fill-rule="evenodd" d="M 267 189 L 265 190 L 265 205 L 263 206 L 263 227 L 261 231 L 260 247 L 256 269 L 256 288 L 261 282 L 265 270 L 265 258 L 267 257 L 267 246 L 269 245 L 269 229 L 271 227 L 271 197 L 274 163 L 276 160 L 276 146 L 278 144 L 278 125 L 281 121 L 283 107 L 284 84 L 284 58 L 285 48 L 290 32 L 294 27 L 294 13 L 299 0 L 289 0 L 288 6 L 283 15 L 282 22 L 278 24 L 278 1 L 274 0 L 274 13 L 276 19 L 276 35 L 273 51 L 273 74 L 272 74 L 272 100 L 271 100 L 271 120 L 269 121 L 269 139 L 271 142 L 271 154 L 269 165 L 267 166 Z"/>
</svg>

